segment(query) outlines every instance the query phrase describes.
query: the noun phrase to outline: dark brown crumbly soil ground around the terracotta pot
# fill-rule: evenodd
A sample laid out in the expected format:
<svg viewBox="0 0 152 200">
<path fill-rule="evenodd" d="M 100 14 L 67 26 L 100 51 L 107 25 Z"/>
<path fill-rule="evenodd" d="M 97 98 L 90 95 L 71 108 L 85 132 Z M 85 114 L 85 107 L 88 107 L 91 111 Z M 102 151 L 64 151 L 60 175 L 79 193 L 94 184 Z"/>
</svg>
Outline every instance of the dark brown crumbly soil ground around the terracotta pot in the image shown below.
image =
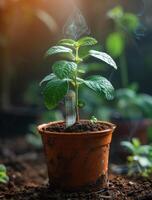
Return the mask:
<svg viewBox="0 0 152 200">
<path fill-rule="evenodd" d="M 2 200 L 152 200 L 152 180 L 110 174 L 109 189 L 81 193 L 53 191 L 47 182 L 42 150 L 24 138 L 0 141 L 0 163 L 8 169 L 10 181 L 0 184 Z"/>
</svg>

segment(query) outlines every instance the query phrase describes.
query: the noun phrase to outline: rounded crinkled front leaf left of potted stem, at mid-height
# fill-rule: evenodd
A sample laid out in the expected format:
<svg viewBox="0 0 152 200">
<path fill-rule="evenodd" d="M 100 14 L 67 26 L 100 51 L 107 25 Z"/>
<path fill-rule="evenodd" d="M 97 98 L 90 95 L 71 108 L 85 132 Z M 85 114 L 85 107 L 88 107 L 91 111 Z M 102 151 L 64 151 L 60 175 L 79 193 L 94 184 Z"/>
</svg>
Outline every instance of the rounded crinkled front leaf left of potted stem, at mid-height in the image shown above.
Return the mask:
<svg viewBox="0 0 152 200">
<path fill-rule="evenodd" d="M 60 79 L 73 78 L 77 70 L 77 64 L 62 60 L 55 62 L 52 69 L 54 74 Z"/>
</svg>

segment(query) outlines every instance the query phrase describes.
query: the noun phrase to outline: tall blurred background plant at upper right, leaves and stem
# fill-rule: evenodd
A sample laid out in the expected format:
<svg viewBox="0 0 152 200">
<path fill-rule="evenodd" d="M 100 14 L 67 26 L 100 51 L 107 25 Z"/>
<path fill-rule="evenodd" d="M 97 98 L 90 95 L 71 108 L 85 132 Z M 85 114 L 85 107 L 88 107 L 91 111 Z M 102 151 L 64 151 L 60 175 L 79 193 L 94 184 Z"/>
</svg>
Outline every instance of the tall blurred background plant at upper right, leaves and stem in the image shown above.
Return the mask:
<svg viewBox="0 0 152 200">
<path fill-rule="evenodd" d="M 114 31 L 106 39 L 106 48 L 110 55 L 119 61 L 121 86 L 125 88 L 129 84 L 126 46 L 129 41 L 133 42 L 132 34 L 140 26 L 140 21 L 135 14 L 125 12 L 122 6 L 109 10 L 107 16 L 114 23 Z"/>
</svg>

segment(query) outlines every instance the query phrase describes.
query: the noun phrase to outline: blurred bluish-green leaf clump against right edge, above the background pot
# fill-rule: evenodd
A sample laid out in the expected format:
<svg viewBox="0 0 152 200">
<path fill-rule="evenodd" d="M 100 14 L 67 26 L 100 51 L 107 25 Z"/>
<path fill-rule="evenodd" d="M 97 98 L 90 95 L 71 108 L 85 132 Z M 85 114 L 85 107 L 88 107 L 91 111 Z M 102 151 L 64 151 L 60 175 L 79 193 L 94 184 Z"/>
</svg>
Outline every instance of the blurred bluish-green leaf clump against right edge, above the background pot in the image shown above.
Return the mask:
<svg viewBox="0 0 152 200">
<path fill-rule="evenodd" d="M 130 88 L 116 90 L 113 102 L 113 110 L 127 119 L 151 119 L 152 118 L 152 96 L 138 94 Z"/>
</svg>

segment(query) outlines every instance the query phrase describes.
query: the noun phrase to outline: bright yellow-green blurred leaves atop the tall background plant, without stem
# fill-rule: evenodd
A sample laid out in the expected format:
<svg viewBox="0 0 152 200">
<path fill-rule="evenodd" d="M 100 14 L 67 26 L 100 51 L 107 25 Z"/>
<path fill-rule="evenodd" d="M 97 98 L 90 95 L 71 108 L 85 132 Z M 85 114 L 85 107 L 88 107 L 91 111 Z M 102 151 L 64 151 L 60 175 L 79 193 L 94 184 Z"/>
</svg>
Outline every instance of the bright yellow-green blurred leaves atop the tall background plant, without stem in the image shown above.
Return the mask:
<svg viewBox="0 0 152 200">
<path fill-rule="evenodd" d="M 108 52 L 117 58 L 124 53 L 128 37 L 135 32 L 140 22 L 136 15 L 124 12 L 121 6 L 108 11 L 107 16 L 113 20 L 116 31 L 107 37 L 106 47 Z"/>
</svg>

